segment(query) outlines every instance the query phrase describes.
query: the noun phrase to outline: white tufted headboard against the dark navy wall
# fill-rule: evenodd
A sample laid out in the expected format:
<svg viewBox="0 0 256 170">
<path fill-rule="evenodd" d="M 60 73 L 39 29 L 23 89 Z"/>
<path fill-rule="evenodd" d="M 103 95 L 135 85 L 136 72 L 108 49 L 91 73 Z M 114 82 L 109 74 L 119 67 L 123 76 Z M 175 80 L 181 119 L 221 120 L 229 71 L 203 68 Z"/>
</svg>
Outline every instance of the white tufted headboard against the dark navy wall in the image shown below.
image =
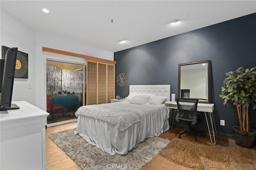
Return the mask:
<svg viewBox="0 0 256 170">
<path fill-rule="evenodd" d="M 169 102 L 171 99 L 171 85 L 130 85 L 129 88 L 129 94 L 136 93 L 165 96 L 166 102 Z"/>
</svg>

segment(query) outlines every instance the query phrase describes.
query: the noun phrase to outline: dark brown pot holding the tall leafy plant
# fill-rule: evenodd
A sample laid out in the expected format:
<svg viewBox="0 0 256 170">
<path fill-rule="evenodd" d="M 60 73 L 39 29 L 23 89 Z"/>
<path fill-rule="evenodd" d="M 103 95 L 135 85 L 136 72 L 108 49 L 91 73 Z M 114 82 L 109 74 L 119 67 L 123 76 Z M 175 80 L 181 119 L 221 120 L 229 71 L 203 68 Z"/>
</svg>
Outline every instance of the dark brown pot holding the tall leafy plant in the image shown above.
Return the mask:
<svg viewBox="0 0 256 170">
<path fill-rule="evenodd" d="M 252 148 L 254 145 L 254 140 L 256 136 L 256 131 L 250 129 L 250 132 L 240 131 L 239 126 L 233 127 L 233 132 L 235 135 L 236 145 L 246 148 Z"/>
</svg>

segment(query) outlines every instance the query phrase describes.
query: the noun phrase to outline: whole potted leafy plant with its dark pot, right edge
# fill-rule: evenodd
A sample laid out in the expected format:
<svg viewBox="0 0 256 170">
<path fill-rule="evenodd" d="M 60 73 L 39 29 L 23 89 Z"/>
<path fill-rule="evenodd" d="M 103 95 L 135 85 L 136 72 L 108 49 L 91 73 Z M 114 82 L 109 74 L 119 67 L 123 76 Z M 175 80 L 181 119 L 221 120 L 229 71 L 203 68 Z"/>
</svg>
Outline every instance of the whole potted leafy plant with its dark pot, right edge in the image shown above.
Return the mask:
<svg viewBox="0 0 256 170">
<path fill-rule="evenodd" d="M 236 105 L 240 126 L 234 126 L 236 144 L 252 148 L 256 131 L 250 129 L 249 107 L 256 109 L 256 67 L 251 69 L 238 68 L 235 72 L 226 73 L 221 94 L 223 104 L 231 102 Z"/>
</svg>

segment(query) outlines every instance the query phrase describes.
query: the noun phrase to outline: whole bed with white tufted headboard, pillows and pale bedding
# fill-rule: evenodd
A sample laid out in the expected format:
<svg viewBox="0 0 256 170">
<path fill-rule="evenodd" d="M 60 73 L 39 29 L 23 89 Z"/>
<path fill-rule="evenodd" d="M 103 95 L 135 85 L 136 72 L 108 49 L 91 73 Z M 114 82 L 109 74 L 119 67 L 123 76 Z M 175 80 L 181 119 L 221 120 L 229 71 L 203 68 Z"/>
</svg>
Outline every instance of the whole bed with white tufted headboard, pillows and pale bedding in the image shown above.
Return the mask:
<svg viewBox="0 0 256 170">
<path fill-rule="evenodd" d="M 148 96 L 150 104 L 141 104 Z M 168 114 L 164 104 L 159 103 L 159 98 L 162 103 L 170 101 L 170 85 L 131 85 L 124 102 L 81 106 L 76 111 L 78 121 L 75 133 L 110 155 L 127 154 L 144 139 L 159 136 L 170 128 Z M 108 110 L 114 115 L 105 113 Z M 114 117 L 114 120 L 106 120 L 106 117 Z M 129 117 L 132 120 L 126 120 Z"/>
</svg>

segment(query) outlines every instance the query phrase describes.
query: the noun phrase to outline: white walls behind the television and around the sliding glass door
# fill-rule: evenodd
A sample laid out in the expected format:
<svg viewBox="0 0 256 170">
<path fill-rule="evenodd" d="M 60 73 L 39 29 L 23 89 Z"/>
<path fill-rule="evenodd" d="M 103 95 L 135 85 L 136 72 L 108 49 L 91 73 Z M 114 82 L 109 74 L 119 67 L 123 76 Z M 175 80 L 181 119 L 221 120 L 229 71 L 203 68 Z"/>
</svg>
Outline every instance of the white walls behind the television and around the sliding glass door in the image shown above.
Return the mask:
<svg viewBox="0 0 256 170">
<path fill-rule="evenodd" d="M 85 63 L 85 59 L 43 52 L 42 47 L 114 60 L 114 53 L 82 43 L 38 33 L 1 10 L 1 46 L 18 47 L 28 53 L 28 79 L 15 79 L 13 101 L 25 100 L 46 110 L 46 59 Z M 28 89 L 28 84 L 31 89 Z"/>
</svg>

